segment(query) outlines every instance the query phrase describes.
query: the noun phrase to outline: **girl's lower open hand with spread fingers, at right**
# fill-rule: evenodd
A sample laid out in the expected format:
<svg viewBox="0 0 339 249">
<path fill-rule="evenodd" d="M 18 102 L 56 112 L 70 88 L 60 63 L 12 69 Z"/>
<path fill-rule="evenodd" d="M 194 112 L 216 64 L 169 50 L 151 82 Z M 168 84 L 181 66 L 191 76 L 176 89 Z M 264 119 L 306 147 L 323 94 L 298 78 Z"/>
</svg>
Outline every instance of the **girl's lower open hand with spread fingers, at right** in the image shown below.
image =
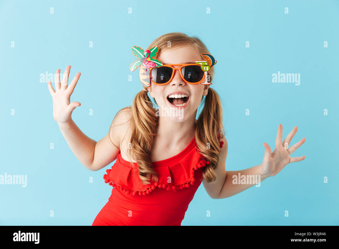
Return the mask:
<svg viewBox="0 0 339 249">
<path fill-rule="evenodd" d="M 279 124 L 276 147 L 272 153 L 270 146 L 268 146 L 266 143 L 263 143 L 265 147 L 265 155 L 261 167 L 264 175 L 267 177 L 273 177 L 274 175 L 278 174 L 287 164 L 299 162 L 306 158 L 304 155 L 302 157 L 291 157 L 291 154 L 306 141 L 306 138 L 301 139 L 298 143 L 288 148 L 288 145 L 290 144 L 297 130 L 298 127 L 295 126 L 290 134 L 288 134 L 285 140 L 282 142 L 282 124 Z"/>
</svg>

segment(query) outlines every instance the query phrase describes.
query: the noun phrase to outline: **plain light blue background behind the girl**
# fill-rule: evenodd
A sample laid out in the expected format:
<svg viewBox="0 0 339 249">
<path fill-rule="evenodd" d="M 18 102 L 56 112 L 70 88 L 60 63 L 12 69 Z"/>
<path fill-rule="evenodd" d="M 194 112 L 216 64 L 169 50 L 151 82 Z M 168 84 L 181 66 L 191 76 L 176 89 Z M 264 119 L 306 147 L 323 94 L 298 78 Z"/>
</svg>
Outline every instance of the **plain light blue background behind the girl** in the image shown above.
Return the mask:
<svg viewBox="0 0 339 249">
<path fill-rule="evenodd" d="M 306 159 L 226 199 L 211 199 L 201 184 L 182 225 L 339 225 L 338 13 L 338 1 L 0 1 L 0 174 L 27 175 L 27 187 L 0 185 L 0 224 L 92 225 L 111 194 L 103 174 L 113 163 L 81 165 L 40 74 L 81 72 L 72 118 L 98 141 L 142 89 L 129 71 L 131 47 L 183 32 L 218 61 L 212 87 L 223 103 L 226 170 L 260 164 L 280 123 L 283 139 L 298 126 L 291 145 L 306 142 L 292 155 Z M 300 73 L 300 85 L 272 83 L 278 71 Z"/>
</svg>

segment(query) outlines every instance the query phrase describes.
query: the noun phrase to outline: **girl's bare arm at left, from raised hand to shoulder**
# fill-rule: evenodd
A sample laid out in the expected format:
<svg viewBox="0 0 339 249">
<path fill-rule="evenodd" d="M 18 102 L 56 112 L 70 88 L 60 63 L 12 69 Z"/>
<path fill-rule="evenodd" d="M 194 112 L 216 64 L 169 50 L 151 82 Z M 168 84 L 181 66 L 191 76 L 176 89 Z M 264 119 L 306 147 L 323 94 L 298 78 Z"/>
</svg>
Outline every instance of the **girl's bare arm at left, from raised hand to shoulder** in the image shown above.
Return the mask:
<svg viewBox="0 0 339 249">
<path fill-rule="evenodd" d="M 80 106 L 79 102 L 70 103 L 70 97 L 79 80 L 80 73 L 74 77 L 71 84 L 68 86 L 68 75 L 71 66 L 67 66 L 65 70 L 62 83 L 60 84 L 60 69 L 57 70 L 54 91 L 51 81 L 48 82 L 49 92 L 53 98 L 53 117 L 58 123 L 62 135 L 64 136 L 69 148 L 73 151 L 75 156 L 89 170 L 99 170 L 116 159 L 120 151 L 120 134 L 125 129 L 125 126 L 117 126 L 110 129 L 111 132 L 107 134 L 100 141 L 87 137 L 79 127 L 72 120 L 72 112 Z M 112 125 L 121 123 L 125 115 L 116 115 L 115 122 Z M 112 142 L 117 145 L 114 146 Z"/>
</svg>

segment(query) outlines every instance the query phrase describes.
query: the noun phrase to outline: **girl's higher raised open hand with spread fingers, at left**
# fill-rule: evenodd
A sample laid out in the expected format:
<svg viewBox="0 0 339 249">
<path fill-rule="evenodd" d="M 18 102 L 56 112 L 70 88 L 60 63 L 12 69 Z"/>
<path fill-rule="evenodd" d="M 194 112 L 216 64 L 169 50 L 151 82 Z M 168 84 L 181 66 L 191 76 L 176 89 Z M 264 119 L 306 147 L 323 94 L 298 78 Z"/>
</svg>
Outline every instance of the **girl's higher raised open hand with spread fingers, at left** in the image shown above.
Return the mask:
<svg viewBox="0 0 339 249">
<path fill-rule="evenodd" d="M 73 78 L 71 84 L 68 85 L 68 75 L 71 66 L 67 66 L 65 69 L 64 76 L 62 77 L 62 82 L 60 84 L 60 69 L 57 69 L 56 79 L 55 79 L 55 90 L 52 87 L 52 82 L 48 81 L 48 89 L 52 95 L 53 99 L 53 118 L 54 120 L 60 123 L 66 123 L 71 120 L 71 115 L 75 107 L 80 106 L 79 102 L 70 103 L 71 95 L 73 93 L 74 87 L 76 86 L 80 72 L 76 74 Z"/>
</svg>

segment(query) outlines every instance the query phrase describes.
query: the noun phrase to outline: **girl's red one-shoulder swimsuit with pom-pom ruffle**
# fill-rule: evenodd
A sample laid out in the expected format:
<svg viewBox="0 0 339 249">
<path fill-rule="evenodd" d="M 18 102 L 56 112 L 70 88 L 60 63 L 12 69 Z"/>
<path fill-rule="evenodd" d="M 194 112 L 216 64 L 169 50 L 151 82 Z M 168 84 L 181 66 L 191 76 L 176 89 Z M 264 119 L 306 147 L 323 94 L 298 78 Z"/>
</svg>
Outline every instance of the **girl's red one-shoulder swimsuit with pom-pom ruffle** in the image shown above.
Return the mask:
<svg viewBox="0 0 339 249">
<path fill-rule="evenodd" d="M 112 169 L 104 174 L 105 182 L 113 186 L 112 194 L 92 226 L 181 225 L 188 204 L 201 184 L 202 167 L 210 162 L 198 153 L 193 138 L 179 154 L 152 164 L 159 181 L 143 185 L 137 163 L 133 169 L 118 154 Z"/>
</svg>

